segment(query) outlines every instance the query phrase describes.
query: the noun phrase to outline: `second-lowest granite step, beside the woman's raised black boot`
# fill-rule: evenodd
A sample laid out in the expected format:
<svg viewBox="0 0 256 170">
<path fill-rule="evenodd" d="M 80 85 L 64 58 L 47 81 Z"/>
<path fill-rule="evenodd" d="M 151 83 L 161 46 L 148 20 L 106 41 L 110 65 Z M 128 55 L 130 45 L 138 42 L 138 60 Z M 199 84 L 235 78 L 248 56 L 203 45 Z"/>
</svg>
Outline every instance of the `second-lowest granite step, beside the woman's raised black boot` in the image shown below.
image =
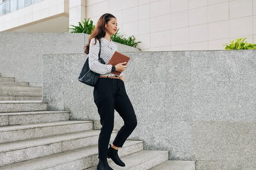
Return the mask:
<svg viewBox="0 0 256 170">
<path fill-rule="evenodd" d="M 141 150 L 122 158 L 125 167 L 120 167 L 113 161 L 109 163 L 109 166 L 114 170 L 148 170 L 168 159 L 168 150 Z M 91 167 L 87 170 L 97 170 L 97 167 Z"/>
</svg>

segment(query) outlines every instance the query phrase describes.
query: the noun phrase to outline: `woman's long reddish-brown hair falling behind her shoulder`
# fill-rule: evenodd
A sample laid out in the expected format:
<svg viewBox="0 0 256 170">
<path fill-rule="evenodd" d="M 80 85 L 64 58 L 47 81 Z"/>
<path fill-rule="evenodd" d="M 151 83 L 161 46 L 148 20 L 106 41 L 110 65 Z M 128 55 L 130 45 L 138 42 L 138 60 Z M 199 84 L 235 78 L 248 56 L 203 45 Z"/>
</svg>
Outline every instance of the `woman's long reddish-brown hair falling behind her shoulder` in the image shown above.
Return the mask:
<svg viewBox="0 0 256 170">
<path fill-rule="evenodd" d="M 95 38 L 95 44 L 96 44 L 96 39 L 99 40 L 100 38 L 105 37 L 105 35 L 106 35 L 105 24 L 107 24 L 108 21 L 111 20 L 111 18 L 116 18 L 116 17 L 114 17 L 112 14 L 108 14 L 108 13 L 107 13 L 107 14 L 103 14 L 103 15 L 99 18 L 96 27 L 93 29 L 92 34 L 90 34 L 88 44 L 84 46 L 84 48 L 85 48 L 84 53 L 85 53 L 85 54 L 89 54 L 90 40 L 92 40 L 93 38 Z M 95 45 L 95 44 L 94 44 L 94 45 Z"/>
</svg>

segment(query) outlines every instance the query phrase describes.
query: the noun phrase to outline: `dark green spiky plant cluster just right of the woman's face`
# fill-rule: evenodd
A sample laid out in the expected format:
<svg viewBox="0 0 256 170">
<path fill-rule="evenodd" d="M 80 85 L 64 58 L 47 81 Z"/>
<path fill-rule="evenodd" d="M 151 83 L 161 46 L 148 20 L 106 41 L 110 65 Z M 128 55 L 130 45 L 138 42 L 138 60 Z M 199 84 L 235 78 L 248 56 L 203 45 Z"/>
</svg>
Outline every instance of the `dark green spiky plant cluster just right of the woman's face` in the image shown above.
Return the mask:
<svg viewBox="0 0 256 170">
<path fill-rule="evenodd" d="M 114 41 L 114 42 L 118 42 L 120 44 L 124 44 L 124 45 L 129 45 L 131 47 L 135 47 L 138 45 L 138 43 L 141 43 L 140 41 L 139 42 L 135 42 L 136 38 L 132 35 L 128 38 L 125 38 L 125 34 L 120 34 L 119 32 L 119 29 L 116 30 L 116 34 L 114 35 L 111 35 L 111 40 Z"/>
</svg>

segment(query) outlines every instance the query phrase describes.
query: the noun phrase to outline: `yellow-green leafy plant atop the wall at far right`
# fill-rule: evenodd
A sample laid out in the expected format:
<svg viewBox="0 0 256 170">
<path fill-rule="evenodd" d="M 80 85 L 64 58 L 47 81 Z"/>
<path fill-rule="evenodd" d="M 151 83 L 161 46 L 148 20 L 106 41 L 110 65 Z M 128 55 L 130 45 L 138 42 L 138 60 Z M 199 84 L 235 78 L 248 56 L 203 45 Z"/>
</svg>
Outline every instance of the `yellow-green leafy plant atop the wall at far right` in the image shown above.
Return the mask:
<svg viewBox="0 0 256 170">
<path fill-rule="evenodd" d="M 256 44 L 252 44 L 252 43 L 248 43 L 248 42 L 244 42 L 244 40 L 247 38 L 238 38 L 233 41 L 230 41 L 230 44 L 226 43 L 226 44 L 222 44 L 223 47 L 225 47 L 226 50 L 244 50 L 244 49 L 249 49 L 249 50 L 253 50 L 256 49 Z"/>
</svg>

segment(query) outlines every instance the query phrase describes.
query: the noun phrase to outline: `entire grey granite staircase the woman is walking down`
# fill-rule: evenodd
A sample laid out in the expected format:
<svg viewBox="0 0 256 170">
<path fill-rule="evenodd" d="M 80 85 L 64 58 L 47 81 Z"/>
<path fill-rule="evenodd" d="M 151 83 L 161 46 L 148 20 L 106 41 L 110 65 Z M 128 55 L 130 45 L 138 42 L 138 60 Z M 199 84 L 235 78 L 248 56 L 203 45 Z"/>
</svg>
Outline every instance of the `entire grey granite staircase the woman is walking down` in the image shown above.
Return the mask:
<svg viewBox="0 0 256 170">
<path fill-rule="evenodd" d="M 69 111 L 47 111 L 47 103 L 39 100 L 40 88 L 14 80 L 0 77 L 0 170 L 96 170 L 100 130 L 93 130 L 93 121 L 69 120 Z M 117 132 L 113 130 L 110 143 Z M 171 161 L 168 150 L 143 150 L 143 145 L 127 140 L 119 148 L 126 166 L 108 159 L 110 166 L 195 170 L 195 161 Z"/>
</svg>

